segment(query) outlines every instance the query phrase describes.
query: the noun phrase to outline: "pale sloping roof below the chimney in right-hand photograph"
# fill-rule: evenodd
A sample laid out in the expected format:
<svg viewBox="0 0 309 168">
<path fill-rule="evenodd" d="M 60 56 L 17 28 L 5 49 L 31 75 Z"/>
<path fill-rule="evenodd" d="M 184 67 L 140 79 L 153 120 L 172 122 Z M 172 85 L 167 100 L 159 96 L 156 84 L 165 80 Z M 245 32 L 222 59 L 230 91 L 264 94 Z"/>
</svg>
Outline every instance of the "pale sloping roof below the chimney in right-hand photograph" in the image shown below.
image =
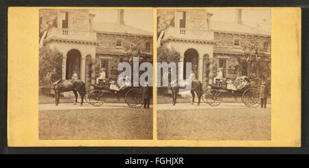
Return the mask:
<svg viewBox="0 0 309 168">
<path fill-rule="evenodd" d="M 249 25 L 243 25 L 235 22 L 225 22 L 225 21 L 212 21 L 212 29 L 214 32 L 238 32 L 244 34 L 262 34 L 266 36 L 271 36 L 271 32 L 266 32 L 257 27 L 251 27 Z"/>
</svg>

